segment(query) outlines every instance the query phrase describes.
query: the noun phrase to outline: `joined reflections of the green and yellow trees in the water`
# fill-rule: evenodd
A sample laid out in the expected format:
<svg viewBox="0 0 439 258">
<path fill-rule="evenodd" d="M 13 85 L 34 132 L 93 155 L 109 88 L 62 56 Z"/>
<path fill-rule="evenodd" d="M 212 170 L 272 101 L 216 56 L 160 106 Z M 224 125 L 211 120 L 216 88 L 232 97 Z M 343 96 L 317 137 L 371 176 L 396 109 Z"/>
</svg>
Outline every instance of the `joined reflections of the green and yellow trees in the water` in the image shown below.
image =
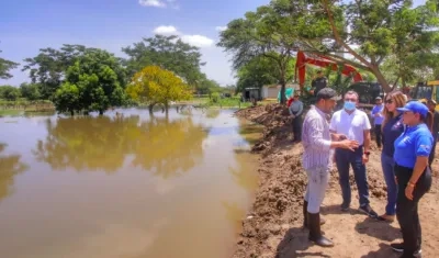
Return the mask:
<svg viewBox="0 0 439 258">
<path fill-rule="evenodd" d="M 128 155 L 132 166 L 162 178 L 189 171 L 203 157 L 207 133 L 192 117 L 171 120 L 139 115 L 47 120 L 47 137 L 34 154 L 52 169 L 119 171 Z"/>
</svg>

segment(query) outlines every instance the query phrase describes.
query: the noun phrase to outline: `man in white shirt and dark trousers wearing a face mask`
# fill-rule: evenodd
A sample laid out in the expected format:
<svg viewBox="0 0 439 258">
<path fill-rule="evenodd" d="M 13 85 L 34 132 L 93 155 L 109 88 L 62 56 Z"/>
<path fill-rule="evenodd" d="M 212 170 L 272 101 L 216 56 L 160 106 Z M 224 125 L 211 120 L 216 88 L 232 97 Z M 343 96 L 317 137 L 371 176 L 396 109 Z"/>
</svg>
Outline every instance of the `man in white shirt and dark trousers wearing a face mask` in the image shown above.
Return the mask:
<svg viewBox="0 0 439 258">
<path fill-rule="evenodd" d="M 349 184 L 349 167 L 352 167 L 353 176 L 360 197 L 359 211 L 370 217 L 378 217 L 376 212 L 369 204 L 369 187 L 365 176 L 365 164 L 369 161 L 371 124 L 368 115 L 357 109 L 358 93 L 348 91 L 344 99 L 344 109 L 334 113 L 330 121 L 330 131 L 335 134 L 346 135 L 348 139 L 357 141 L 359 147 L 356 152 L 347 152 L 337 148 L 335 161 L 339 173 L 339 183 L 342 193 L 341 210 L 348 211 L 351 202 L 351 189 Z"/>
</svg>

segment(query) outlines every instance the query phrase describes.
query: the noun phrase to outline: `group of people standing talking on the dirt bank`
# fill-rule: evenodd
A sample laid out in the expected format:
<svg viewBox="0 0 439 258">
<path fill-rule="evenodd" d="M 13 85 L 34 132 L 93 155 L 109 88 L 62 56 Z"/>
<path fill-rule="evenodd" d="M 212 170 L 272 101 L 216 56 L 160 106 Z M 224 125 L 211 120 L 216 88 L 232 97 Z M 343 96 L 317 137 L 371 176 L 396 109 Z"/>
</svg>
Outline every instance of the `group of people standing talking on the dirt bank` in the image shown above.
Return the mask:
<svg viewBox="0 0 439 258">
<path fill-rule="evenodd" d="M 372 152 L 371 122 L 363 111 L 357 109 L 359 96 L 354 91 L 348 91 L 344 96 L 344 109 L 330 115 L 336 105 L 336 91 L 330 88 L 318 90 L 316 102 L 306 113 L 302 126 L 294 126 L 294 123 L 302 123 L 297 117 L 303 112 L 303 105 L 299 109 L 296 103 L 293 108 L 295 101 L 290 105 L 294 132 L 301 127 L 301 134 L 295 141 L 303 144 L 303 167 L 308 177 L 303 211 L 309 239 L 323 247 L 334 246 L 322 234 L 320 225 L 324 221 L 319 211 L 328 186 L 329 170 L 335 162 L 341 187 L 341 211 L 349 211 L 351 205 L 351 167 L 359 193 L 358 210 L 383 222 L 393 222 L 396 217 L 403 243 L 392 244 L 391 247 L 401 251 L 403 258 L 419 257 L 421 229 L 418 202 L 431 187 L 430 165 L 438 133 L 438 128 L 434 128 L 435 116 L 438 116 L 436 122 L 439 122 L 439 113 L 434 111 L 436 102 L 407 102 L 401 91 L 387 93 L 384 103 L 382 99 L 376 99 L 376 106 L 372 110 L 373 131 L 387 186 L 385 212 L 378 215 L 369 202 L 365 169 Z"/>
</svg>

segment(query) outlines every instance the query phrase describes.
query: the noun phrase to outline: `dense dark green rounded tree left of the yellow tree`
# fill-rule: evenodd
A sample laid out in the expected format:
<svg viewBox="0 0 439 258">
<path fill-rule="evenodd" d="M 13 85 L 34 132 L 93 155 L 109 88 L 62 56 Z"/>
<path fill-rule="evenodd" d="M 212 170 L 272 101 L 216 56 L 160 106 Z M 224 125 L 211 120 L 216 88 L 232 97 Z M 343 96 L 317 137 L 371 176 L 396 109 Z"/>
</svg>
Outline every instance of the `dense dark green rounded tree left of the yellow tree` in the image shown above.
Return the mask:
<svg viewBox="0 0 439 258">
<path fill-rule="evenodd" d="M 125 71 L 119 59 L 105 51 L 88 48 L 67 69 L 66 82 L 53 98 L 58 112 L 103 114 L 110 106 L 125 103 Z"/>
</svg>

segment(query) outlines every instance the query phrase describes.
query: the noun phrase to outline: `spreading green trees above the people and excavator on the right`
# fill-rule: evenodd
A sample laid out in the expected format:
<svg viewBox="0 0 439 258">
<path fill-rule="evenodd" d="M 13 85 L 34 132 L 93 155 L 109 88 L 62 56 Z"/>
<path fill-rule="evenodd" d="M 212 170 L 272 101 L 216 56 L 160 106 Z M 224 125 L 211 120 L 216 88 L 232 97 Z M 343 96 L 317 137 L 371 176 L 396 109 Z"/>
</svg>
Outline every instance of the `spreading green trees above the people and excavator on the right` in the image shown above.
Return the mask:
<svg viewBox="0 0 439 258">
<path fill-rule="evenodd" d="M 217 46 L 232 54 L 238 88 L 280 83 L 284 91 L 302 51 L 372 75 L 389 92 L 439 78 L 438 11 L 437 0 L 416 8 L 410 0 L 271 0 L 230 21 Z"/>
</svg>

